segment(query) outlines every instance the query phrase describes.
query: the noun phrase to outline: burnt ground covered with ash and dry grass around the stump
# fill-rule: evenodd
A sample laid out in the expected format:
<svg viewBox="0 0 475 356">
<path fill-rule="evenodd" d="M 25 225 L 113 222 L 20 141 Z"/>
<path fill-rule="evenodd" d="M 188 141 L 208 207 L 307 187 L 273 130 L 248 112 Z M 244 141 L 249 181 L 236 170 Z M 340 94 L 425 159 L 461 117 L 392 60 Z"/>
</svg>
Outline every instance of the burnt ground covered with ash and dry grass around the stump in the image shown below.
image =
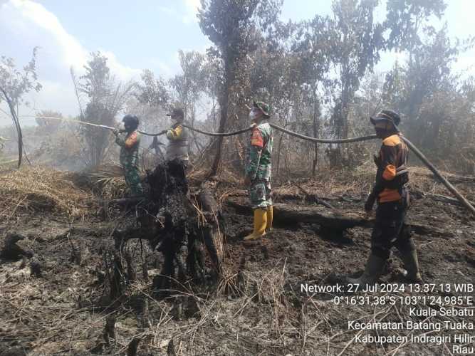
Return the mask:
<svg viewBox="0 0 475 356">
<path fill-rule="evenodd" d="M 434 196 L 447 195 L 442 184 L 434 183 L 423 169 L 414 171 L 412 189 L 426 195 L 414 194 L 408 220 L 415 226 L 424 281 L 435 286 L 473 283 L 473 216 L 461 206 L 434 200 Z M 9 174 L 2 173 L 2 180 Z M 133 211 L 127 214 L 115 208 L 105 214 L 97 197 L 87 187 L 78 187 L 78 179 L 68 174 L 51 172 L 48 177 L 55 177 L 56 188 L 44 174 L 14 174 L 18 182 L 36 177 L 38 187 L 10 184 L 2 190 L 0 248 L 7 236 L 18 234 L 21 239 L 16 246 L 21 251 L 0 259 L 0 355 L 126 355 L 134 346 L 137 355 L 451 355 L 452 345 L 447 343 L 367 343 L 359 338 L 428 332 L 453 336 L 459 330 L 360 331 L 351 330 L 348 322 L 420 323 L 427 318 L 434 323 L 474 322 L 471 316 L 411 315 L 411 305 L 400 303 L 341 301 L 350 295 L 385 297 L 379 300 L 417 295 L 473 298 L 473 291 L 437 288 L 417 293 L 404 284 L 404 291 L 303 293 L 302 283 L 335 286 L 342 276 L 362 271 L 370 251 L 370 227 L 332 231 L 319 224 L 283 224 L 276 219 L 271 234 L 244 246 L 242 237 L 251 229 L 251 215 L 227 202 L 246 204 L 246 192 L 226 181 L 216 191 L 226 221 L 221 280 L 189 283 L 179 295 L 157 300 L 152 278 L 160 273 L 162 256 L 146 241 L 134 240 L 127 247 L 137 278 L 126 283 L 120 300 L 108 300 L 104 251 L 113 244 L 115 229 L 134 224 Z M 332 177 L 275 184 L 276 203 L 296 211 L 329 209 L 313 199 L 319 197 L 340 214 L 361 214 L 371 178 Z M 456 183 L 471 200 L 475 200 L 474 186 L 475 179 Z M 47 193 L 41 193 L 45 189 Z M 382 283 L 401 286 L 401 269 L 395 251 Z M 342 297 L 338 305 L 335 296 Z M 440 309 L 423 304 L 419 298 L 412 307 Z M 110 318 L 115 320 L 113 335 L 107 328 Z M 473 330 L 466 333 L 474 335 Z"/>
</svg>

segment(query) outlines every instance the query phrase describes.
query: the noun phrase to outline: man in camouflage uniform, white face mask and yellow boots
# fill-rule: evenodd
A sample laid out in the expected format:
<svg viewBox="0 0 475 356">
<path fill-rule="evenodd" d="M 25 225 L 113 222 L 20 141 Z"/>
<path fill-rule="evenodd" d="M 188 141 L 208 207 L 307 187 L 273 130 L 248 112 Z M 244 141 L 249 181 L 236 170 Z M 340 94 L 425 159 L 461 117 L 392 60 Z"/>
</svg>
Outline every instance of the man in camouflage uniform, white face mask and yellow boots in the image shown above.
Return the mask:
<svg viewBox="0 0 475 356">
<path fill-rule="evenodd" d="M 244 241 L 261 239 L 272 229 L 273 208 L 271 189 L 271 157 L 273 133 L 268 123 L 269 107 L 266 103 L 254 102 L 249 113 L 253 128 L 246 156 L 246 177 L 249 197 L 254 209 L 254 231 Z"/>
</svg>

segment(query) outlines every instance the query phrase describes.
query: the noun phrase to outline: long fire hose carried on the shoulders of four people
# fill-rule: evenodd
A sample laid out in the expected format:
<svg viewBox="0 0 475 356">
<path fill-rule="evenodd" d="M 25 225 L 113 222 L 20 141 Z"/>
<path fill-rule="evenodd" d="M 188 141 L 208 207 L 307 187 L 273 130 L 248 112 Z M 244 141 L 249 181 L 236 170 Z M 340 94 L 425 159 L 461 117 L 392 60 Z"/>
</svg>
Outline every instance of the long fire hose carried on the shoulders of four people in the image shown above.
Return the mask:
<svg viewBox="0 0 475 356">
<path fill-rule="evenodd" d="M 63 121 L 69 121 L 69 122 L 77 122 L 77 123 L 82 124 L 82 125 L 90 125 L 90 126 L 94 126 L 94 127 L 101 127 L 101 128 L 105 128 L 105 129 L 108 129 L 108 130 L 117 130 L 115 127 L 110 127 L 110 126 L 106 126 L 106 125 L 98 125 L 98 124 L 94 124 L 92 122 L 85 122 L 85 121 L 81 121 L 81 120 L 65 119 L 65 118 L 62 118 L 62 117 L 38 116 L 36 118 L 45 119 L 45 120 L 53 119 L 53 120 L 63 120 Z M 252 127 L 246 127 L 243 130 L 237 130 L 237 131 L 234 131 L 234 132 L 207 132 L 207 131 L 199 130 L 199 129 L 197 129 L 195 127 L 192 127 L 190 125 L 186 125 L 186 124 L 182 124 L 182 125 L 184 127 L 187 127 L 189 130 L 193 130 L 193 131 L 202 133 L 203 135 L 214 136 L 214 137 L 216 137 L 216 136 L 221 136 L 221 137 L 234 136 L 234 135 L 239 135 L 241 133 L 252 130 Z M 286 133 L 287 135 L 291 135 L 291 136 L 294 136 L 294 137 L 301 138 L 302 140 L 307 140 L 307 141 L 315 142 L 315 143 L 343 144 L 343 143 L 350 143 L 350 142 L 375 140 L 377 138 L 376 135 L 369 135 L 369 136 L 362 136 L 362 137 L 346 138 L 346 139 L 341 139 L 341 140 L 320 139 L 320 138 L 317 138 L 317 137 L 310 137 L 310 136 L 299 134 L 298 132 L 293 132 L 291 130 L 287 130 L 286 128 L 281 127 L 279 125 L 275 125 L 273 123 L 270 123 L 269 125 L 271 125 L 271 127 L 275 128 L 276 130 L 279 130 L 281 132 Z M 160 136 L 160 135 L 165 134 L 165 132 L 163 132 L 163 131 L 158 132 L 158 133 L 149 133 L 149 132 L 143 132 L 143 131 L 139 131 L 139 132 L 142 135 L 147 135 L 147 136 Z M 470 202 L 463 195 L 461 195 L 457 191 L 457 189 L 447 179 L 445 179 L 442 176 L 442 174 L 440 174 L 440 172 L 437 170 L 437 168 L 434 167 L 434 164 L 432 164 L 432 162 L 430 162 L 429 159 L 427 159 L 427 157 L 425 157 L 422 154 L 422 152 L 420 152 L 419 149 L 417 149 L 417 147 L 415 147 L 412 144 L 412 142 L 407 140 L 407 138 L 404 137 L 404 136 L 401 136 L 401 138 L 402 138 L 402 140 L 404 140 L 404 142 L 406 142 L 409 149 L 412 150 L 412 152 L 414 152 L 414 154 L 417 157 L 419 157 L 419 159 L 422 161 L 422 163 L 424 163 L 426 165 L 426 167 L 429 168 L 429 170 L 434 174 L 434 176 L 437 177 L 437 179 L 439 179 L 442 182 L 442 184 L 444 184 L 444 186 L 449 190 L 449 192 L 451 192 L 451 194 L 454 194 L 456 199 L 458 199 L 459 202 L 463 206 L 465 206 L 465 208 L 468 209 L 471 212 L 471 214 L 473 214 L 475 216 L 475 207 L 472 206 L 470 204 Z"/>
</svg>

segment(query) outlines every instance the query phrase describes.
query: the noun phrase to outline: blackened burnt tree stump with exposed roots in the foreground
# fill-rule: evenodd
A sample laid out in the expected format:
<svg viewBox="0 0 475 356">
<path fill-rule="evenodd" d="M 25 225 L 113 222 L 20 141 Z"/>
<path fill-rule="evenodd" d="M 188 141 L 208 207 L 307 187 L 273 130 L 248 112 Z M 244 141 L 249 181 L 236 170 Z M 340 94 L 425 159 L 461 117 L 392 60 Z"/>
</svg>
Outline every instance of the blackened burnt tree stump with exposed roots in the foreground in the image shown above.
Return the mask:
<svg viewBox="0 0 475 356">
<path fill-rule="evenodd" d="M 191 281 L 216 281 L 221 273 L 224 221 L 211 190 L 213 184 L 204 183 L 190 194 L 179 160 L 157 165 L 147 173 L 146 182 L 150 190 L 137 205 L 138 227 L 116 231 L 115 250 L 122 254 L 128 240 L 144 239 L 152 250 L 162 253 L 160 275 L 152 282 L 158 298 Z"/>
</svg>

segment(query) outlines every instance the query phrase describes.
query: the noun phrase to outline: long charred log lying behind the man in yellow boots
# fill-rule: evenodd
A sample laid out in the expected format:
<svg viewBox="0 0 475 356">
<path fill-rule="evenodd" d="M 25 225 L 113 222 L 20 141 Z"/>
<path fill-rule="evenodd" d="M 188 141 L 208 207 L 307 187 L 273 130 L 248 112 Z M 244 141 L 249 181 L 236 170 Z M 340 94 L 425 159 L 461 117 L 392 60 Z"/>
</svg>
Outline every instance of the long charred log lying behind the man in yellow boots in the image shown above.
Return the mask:
<svg viewBox="0 0 475 356">
<path fill-rule="evenodd" d="M 251 215 L 252 209 L 244 199 L 231 198 L 226 204 L 238 214 Z M 375 219 L 367 219 L 365 214 L 354 211 L 336 211 L 320 206 L 301 206 L 293 204 L 273 204 L 273 222 L 281 225 L 318 224 L 325 231 L 345 231 L 356 226 L 371 228 Z M 408 221 L 410 229 L 419 235 L 453 236 L 450 231 L 437 229 L 434 226 Z"/>
</svg>

